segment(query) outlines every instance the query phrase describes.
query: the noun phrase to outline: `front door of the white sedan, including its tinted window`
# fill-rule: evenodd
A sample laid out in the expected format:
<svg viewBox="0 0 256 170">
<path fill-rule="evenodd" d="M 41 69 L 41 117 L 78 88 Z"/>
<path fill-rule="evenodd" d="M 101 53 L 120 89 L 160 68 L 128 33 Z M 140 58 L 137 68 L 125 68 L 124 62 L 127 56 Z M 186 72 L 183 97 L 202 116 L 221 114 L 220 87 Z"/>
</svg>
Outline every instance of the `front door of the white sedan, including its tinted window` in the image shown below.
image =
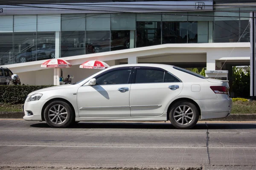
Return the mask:
<svg viewBox="0 0 256 170">
<path fill-rule="evenodd" d="M 96 85 L 83 85 L 77 92 L 80 117 L 131 116 L 129 94 L 132 67 L 114 68 L 96 78 Z"/>
</svg>

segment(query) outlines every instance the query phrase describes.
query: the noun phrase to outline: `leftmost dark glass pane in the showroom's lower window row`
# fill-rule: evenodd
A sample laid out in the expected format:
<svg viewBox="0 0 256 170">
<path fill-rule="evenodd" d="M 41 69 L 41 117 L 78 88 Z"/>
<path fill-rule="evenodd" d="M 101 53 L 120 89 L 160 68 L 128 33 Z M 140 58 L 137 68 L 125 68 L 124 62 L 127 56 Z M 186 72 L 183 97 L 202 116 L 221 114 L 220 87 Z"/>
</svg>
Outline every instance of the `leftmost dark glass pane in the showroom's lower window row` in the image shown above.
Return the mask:
<svg viewBox="0 0 256 170">
<path fill-rule="evenodd" d="M 8 63 L 12 59 L 12 34 L 0 33 L 0 65 L 12 64 Z"/>
</svg>

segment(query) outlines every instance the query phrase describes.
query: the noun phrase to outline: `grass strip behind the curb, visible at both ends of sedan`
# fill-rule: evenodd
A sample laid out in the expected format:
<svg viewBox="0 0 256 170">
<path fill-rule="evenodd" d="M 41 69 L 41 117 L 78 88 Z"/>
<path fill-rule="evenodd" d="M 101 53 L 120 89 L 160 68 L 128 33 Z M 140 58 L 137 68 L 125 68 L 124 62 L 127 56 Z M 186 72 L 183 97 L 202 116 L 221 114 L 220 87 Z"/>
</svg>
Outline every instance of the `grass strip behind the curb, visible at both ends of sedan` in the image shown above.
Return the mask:
<svg viewBox="0 0 256 170">
<path fill-rule="evenodd" d="M 22 111 L 21 104 L 4 104 L 0 103 L 0 111 Z M 233 108 L 231 114 L 249 114 L 256 113 L 256 101 L 243 102 L 236 101 L 233 102 Z"/>
</svg>

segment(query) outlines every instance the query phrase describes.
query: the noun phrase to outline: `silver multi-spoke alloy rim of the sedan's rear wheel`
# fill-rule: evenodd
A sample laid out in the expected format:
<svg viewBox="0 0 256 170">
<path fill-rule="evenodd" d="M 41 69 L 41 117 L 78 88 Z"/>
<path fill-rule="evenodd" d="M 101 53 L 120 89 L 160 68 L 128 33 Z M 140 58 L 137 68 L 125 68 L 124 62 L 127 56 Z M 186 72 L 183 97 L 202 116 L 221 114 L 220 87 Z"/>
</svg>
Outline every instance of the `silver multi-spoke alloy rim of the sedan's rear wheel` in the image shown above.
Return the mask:
<svg viewBox="0 0 256 170">
<path fill-rule="evenodd" d="M 194 111 L 188 105 L 180 105 L 175 109 L 173 117 L 179 125 L 189 125 L 194 119 Z"/>
</svg>

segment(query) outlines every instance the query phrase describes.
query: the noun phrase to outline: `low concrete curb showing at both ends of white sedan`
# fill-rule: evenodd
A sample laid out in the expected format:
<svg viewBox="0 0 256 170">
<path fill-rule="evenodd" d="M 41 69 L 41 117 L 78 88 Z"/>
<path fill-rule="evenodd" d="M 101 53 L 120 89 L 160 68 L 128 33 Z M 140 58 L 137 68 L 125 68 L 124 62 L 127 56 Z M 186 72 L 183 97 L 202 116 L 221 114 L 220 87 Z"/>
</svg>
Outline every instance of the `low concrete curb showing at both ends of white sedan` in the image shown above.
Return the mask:
<svg viewBox="0 0 256 170">
<path fill-rule="evenodd" d="M 0 112 L 0 119 L 23 119 L 24 112 Z M 199 121 L 256 121 L 256 114 L 230 114 L 220 119 L 204 119 Z"/>
</svg>

